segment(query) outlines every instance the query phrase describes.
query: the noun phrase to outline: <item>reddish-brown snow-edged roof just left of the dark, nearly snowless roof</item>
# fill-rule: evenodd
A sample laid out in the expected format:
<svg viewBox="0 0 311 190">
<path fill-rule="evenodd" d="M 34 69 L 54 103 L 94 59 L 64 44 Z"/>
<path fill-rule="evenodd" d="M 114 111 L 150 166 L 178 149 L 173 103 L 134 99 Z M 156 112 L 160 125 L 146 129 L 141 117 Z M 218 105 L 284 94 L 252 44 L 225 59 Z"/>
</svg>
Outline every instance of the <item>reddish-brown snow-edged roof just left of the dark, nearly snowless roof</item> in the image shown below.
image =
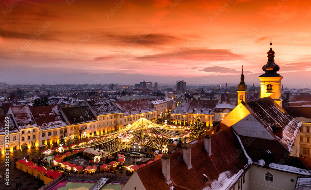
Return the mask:
<svg viewBox="0 0 311 190">
<path fill-rule="evenodd" d="M 40 130 L 68 126 L 57 105 L 29 108 Z"/>
</svg>

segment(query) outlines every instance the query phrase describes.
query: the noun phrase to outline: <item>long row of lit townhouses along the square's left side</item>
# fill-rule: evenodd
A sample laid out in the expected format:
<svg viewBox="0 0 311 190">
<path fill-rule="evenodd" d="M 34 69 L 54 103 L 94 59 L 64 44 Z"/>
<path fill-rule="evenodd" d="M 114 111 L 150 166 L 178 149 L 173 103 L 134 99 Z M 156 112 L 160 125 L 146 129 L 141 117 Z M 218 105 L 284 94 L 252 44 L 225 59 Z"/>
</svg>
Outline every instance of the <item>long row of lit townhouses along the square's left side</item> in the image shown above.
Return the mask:
<svg viewBox="0 0 311 190">
<path fill-rule="evenodd" d="M 121 102 L 96 99 L 77 107 L 11 106 L 7 115 L 0 116 L 1 119 L 7 117 L 10 124 L 8 147 L 5 147 L 5 123 L 0 125 L 0 152 L 3 154 L 6 149 L 12 152 L 60 140 L 71 142 L 74 138 L 80 139 L 84 132 L 88 137 L 109 133 L 126 128 L 141 117 L 156 122 L 158 114 L 147 99 Z"/>
</svg>

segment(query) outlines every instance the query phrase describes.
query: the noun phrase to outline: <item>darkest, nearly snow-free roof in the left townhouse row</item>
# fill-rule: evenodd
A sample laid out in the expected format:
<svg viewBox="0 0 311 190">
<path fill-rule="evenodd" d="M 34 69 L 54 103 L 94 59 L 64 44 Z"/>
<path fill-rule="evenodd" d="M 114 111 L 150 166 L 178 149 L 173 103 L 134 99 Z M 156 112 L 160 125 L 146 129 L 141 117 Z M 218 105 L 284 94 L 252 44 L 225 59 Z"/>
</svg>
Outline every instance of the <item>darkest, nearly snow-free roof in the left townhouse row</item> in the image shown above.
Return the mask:
<svg viewBox="0 0 311 190">
<path fill-rule="evenodd" d="M 71 125 L 97 121 L 88 106 L 61 108 Z"/>
</svg>

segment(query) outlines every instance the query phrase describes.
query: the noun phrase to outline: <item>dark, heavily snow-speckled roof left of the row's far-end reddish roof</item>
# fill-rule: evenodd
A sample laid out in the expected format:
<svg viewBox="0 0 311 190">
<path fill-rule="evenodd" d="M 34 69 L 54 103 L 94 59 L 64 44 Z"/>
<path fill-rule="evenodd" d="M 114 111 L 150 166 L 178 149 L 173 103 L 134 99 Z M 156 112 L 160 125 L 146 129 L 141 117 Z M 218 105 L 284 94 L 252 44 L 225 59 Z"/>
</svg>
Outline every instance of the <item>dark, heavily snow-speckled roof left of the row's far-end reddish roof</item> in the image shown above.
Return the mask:
<svg viewBox="0 0 311 190">
<path fill-rule="evenodd" d="M 119 113 L 119 109 L 114 106 L 109 100 L 91 100 L 87 102 L 97 115 Z"/>
</svg>

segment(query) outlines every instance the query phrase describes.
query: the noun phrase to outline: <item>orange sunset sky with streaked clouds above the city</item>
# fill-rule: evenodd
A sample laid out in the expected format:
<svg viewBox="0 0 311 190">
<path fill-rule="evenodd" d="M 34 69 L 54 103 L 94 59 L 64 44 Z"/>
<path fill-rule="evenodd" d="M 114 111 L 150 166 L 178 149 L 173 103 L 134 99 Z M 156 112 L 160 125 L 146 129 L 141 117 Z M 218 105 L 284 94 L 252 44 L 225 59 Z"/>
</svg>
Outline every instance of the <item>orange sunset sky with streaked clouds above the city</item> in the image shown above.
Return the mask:
<svg viewBox="0 0 311 190">
<path fill-rule="evenodd" d="M 272 38 L 282 83 L 311 87 L 311 1 L 2 0 L 0 10 L 0 82 L 125 73 L 231 83 L 243 65 L 259 85 Z"/>
</svg>

